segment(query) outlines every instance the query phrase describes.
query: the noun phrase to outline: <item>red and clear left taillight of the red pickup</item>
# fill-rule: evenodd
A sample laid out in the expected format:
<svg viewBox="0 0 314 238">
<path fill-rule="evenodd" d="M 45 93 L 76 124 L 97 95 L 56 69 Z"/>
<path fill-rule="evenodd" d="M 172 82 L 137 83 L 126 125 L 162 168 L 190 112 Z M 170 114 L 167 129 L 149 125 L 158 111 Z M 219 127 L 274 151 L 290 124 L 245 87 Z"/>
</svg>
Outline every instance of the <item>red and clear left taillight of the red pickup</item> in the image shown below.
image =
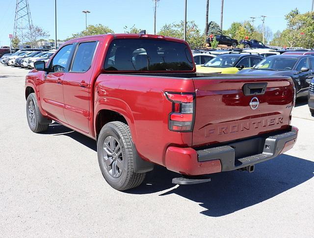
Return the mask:
<svg viewBox="0 0 314 238">
<path fill-rule="evenodd" d="M 169 130 L 174 132 L 192 132 L 194 124 L 195 94 L 165 93 L 172 103 L 169 114 Z"/>
</svg>

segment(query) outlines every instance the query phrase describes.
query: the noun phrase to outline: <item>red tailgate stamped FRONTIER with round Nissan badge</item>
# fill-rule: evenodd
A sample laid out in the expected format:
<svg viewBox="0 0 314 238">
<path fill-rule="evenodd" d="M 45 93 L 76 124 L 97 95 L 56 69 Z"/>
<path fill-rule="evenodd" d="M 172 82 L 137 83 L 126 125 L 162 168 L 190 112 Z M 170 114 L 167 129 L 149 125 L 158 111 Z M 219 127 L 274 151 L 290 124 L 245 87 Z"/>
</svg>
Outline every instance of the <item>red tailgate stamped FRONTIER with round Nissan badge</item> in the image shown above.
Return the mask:
<svg viewBox="0 0 314 238">
<path fill-rule="evenodd" d="M 294 93 L 290 78 L 235 76 L 193 81 L 193 146 L 284 130 L 290 124 Z"/>
</svg>

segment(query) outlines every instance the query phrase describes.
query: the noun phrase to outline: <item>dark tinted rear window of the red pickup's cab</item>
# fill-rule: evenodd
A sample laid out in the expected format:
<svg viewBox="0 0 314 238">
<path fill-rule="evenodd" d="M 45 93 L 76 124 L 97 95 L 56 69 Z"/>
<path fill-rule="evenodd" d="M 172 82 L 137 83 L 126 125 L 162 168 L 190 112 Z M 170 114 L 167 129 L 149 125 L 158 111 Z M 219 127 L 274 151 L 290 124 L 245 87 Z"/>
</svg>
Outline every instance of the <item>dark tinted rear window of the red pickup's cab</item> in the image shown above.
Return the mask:
<svg viewBox="0 0 314 238">
<path fill-rule="evenodd" d="M 106 71 L 191 71 L 188 47 L 155 39 L 115 39 L 105 59 Z"/>
</svg>

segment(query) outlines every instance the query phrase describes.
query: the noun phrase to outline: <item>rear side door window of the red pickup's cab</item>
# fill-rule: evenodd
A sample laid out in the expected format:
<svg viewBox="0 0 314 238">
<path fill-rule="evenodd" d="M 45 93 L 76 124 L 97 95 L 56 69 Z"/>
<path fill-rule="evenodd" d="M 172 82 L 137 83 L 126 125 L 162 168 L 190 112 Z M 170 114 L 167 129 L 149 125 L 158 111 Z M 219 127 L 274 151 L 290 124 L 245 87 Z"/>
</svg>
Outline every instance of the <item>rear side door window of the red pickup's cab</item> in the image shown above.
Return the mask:
<svg viewBox="0 0 314 238">
<path fill-rule="evenodd" d="M 72 63 L 72 72 L 86 72 L 89 70 L 92 59 L 95 53 L 97 43 L 83 42 L 78 45 L 78 49 L 75 53 Z"/>
</svg>

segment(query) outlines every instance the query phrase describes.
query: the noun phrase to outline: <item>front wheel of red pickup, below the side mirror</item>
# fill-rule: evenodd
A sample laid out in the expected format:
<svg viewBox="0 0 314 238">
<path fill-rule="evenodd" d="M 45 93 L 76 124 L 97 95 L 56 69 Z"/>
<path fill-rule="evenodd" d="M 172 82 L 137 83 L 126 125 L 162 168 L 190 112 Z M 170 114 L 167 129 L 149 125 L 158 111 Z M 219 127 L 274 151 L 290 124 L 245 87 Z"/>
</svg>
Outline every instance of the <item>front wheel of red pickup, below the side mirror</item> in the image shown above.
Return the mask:
<svg viewBox="0 0 314 238">
<path fill-rule="evenodd" d="M 41 112 L 38 108 L 36 95 L 35 93 L 31 93 L 28 95 L 26 100 L 26 118 L 28 126 L 32 132 L 39 133 L 47 131 L 49 125 L 40 124 L 39 123 L 40 116 Z"/>
</svg>

